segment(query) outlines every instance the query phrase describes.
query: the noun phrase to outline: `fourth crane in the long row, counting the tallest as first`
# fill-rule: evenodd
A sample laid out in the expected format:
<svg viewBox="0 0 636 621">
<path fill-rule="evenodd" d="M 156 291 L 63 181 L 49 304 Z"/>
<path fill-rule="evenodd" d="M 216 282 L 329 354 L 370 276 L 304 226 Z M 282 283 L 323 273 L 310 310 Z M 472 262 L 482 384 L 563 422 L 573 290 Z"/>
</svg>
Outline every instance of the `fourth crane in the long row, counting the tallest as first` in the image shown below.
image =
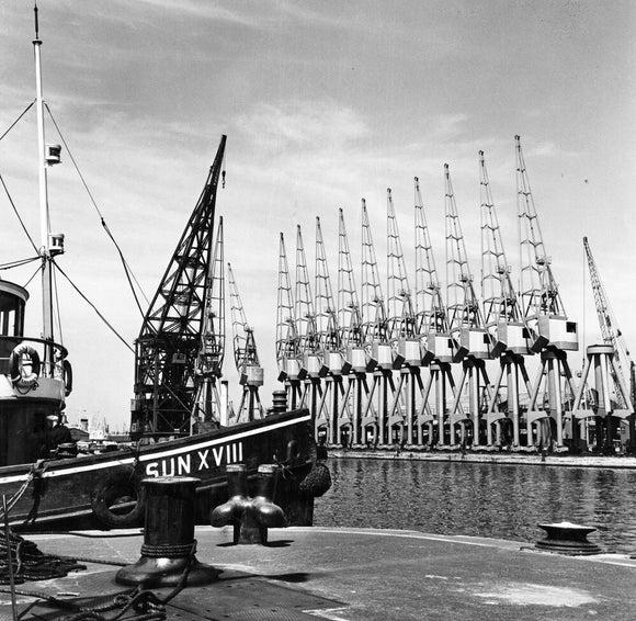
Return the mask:
<svg viewBox="0 0 636 621">
<path fill-rule="evenodd" d="M 424 213 L 420 181 L 414 178 L 414 224 L 416 224 L 416 331 L 424 345 L 422 363 L 429 368 L 429 377 L 422 388 L 421 406 L 417 418 L 417 443 L 424 443 L 424 429 L 428 430 L 427 444 L 444 443 L 444 418 L 446 398 L 454 397 L 455 382 L 451 371 L 454 347 L 446 305 L 442 296 L 442 285 L 435 267 L 431 235 Z M 434 387 L 433 404 L 438 417 L 438 438 L 433 421 L 435 415 L 430 406 L 431 391 Z"/>
</svg>

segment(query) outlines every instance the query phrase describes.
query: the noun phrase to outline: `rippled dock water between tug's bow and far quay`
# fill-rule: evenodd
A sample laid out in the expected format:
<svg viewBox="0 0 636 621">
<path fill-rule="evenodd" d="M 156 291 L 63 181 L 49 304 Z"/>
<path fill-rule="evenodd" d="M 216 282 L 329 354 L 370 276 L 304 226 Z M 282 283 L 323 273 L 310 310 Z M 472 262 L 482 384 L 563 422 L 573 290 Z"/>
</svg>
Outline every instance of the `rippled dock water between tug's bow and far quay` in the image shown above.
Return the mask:
<svg viewBox="0 0 636 621">
<path fill-rule="evenodd" d="M 316 526 L 411 529 L 534 543 L 538 522 L 594 527 L 606 552 L 636 552 L 636 471 L 469 462 L 330 460 Z"/>
</svg>

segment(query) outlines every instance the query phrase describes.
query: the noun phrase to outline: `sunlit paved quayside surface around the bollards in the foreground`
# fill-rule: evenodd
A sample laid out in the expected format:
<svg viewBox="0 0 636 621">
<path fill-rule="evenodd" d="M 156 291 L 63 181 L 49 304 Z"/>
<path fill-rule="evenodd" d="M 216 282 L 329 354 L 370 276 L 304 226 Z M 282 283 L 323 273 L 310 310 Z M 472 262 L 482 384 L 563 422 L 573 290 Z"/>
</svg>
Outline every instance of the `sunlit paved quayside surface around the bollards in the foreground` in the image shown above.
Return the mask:
<svg viewBox="0 0 636 621">
<path fill-rule="evenodd" d="M 94 534 L 29 539 L 48 553 L 139 557 L 140 534 Z M 624 555 L 571 557 L 511 541 L 345 528 L 275 529 L 268 546 L 234 545 L 228 528 L 197 528 L 196 539 L 198 561 L 223 573 L 211 586 L 179 594 L 172 619 L 617 621 L 636 610 L 636 560 Z M 82 596 L 123 589 L 113 582 L 116 567 L 88 567 L 20 588 Z M 21 596 L 20 606 L 27 599 Z"/>
</svg>

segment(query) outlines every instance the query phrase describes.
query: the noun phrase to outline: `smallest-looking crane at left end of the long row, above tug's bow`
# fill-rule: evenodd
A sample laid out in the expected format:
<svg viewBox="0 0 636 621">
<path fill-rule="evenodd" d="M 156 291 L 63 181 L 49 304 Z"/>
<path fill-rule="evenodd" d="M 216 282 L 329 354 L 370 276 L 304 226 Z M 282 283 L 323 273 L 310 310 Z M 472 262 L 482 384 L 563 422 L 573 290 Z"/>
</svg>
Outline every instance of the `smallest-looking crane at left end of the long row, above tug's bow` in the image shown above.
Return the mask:
<svg viewBox="0 0 636 621">
<path fill-rule="evenodd" d="M 287 403 L 292 409 L 302 407 L 303 383 L 307 371 L 303 366 L 300 339 L 296 328 L 294 292 L 289 276 L 289 264 L 285 250 L 285 238 L 279 241 L 279 295 L 276 307 L 276 361 L 279 381 L 285 384 Z"/>
</svg>

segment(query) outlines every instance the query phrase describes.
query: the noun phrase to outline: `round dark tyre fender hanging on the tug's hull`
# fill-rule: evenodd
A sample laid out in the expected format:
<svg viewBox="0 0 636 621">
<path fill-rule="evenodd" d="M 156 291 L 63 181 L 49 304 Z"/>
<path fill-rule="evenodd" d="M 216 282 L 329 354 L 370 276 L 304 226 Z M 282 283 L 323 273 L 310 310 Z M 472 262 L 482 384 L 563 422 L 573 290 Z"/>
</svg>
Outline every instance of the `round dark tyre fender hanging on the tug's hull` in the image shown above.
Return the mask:
<svg viewBox="0 0 636 621">
<path fill-rule="evenodd" d="M 141 477 L 130 466 L 112 468 L 93 489 L 91 508 L 106 527 L 126 528 L 139 524 L 146 510 L 146 492 Z"/>
</svg>

